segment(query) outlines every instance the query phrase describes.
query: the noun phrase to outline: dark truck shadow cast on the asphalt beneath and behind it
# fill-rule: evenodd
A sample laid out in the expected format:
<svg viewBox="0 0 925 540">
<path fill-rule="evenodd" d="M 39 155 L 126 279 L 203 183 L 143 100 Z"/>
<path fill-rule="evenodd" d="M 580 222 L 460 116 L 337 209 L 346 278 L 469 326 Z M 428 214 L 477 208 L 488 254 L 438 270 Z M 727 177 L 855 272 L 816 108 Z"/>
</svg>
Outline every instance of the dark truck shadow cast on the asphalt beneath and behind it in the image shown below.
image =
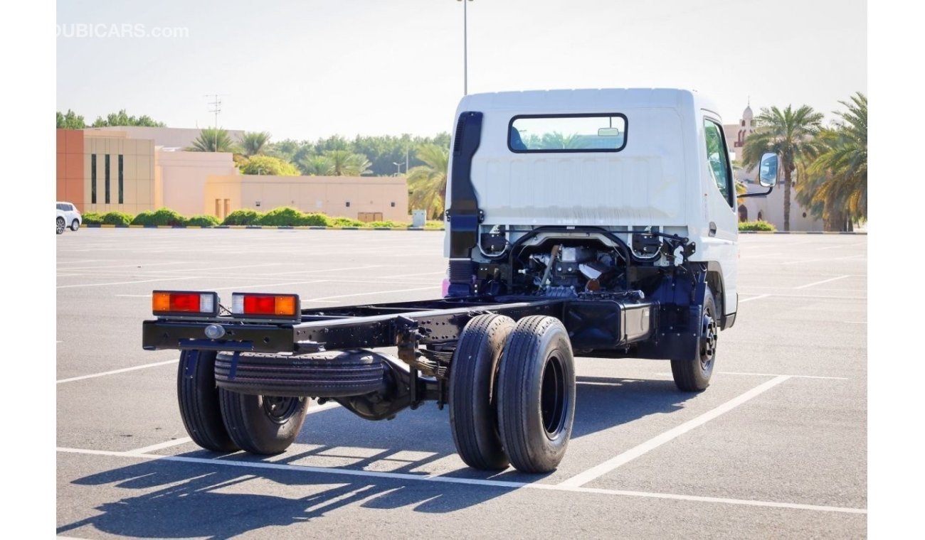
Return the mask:
<svg viewBox="0 0 925 540">
<path fill-rule="evenodd" d="M 578 377 L 577 387 L 573 438 L 648 414 L 670 414 L 682 409 L 685 401 L 693 397 L 675 390 L 671 380 Z M 310 522 L 351 505 L 380 510 L 410 507 L 419 512 L 452 512 L 514 489 L 417 482 L 402 477 L 328 474 L 307 467 L 287 470 L 217 466 L 203 459 L 422 476 L 437 473 L 527 484 L 546 477 L 521 474 L 511 468 L 496 474 L 465 467 L 455 456 L 449 424 L 448 411 L 439 411 L 434 406 L 405 412 L 390 422 L 367 422 L 337 407 L 309 415 L 298 444 L 281 456 L 265 458 L 244 453 L 221 456 L 195 450 L 180 456 L 199 459 L 194 462 L 154 460 L 91 474 L 71 485 L 108 486 L 118 493 L 134 490 L 137 494 L 105 502 L 95 508 L 100 512 L 98 515 L 62 524 L 57 534 L 92 526 L 125 536 L 227 538 L 269 526 Z M 320 441 L 323 444 L 318 444 Z M 446 462 L 436 463 L 440 460 Z M 441 472 L 448 468 L 450 472 Z"/>
</svg>

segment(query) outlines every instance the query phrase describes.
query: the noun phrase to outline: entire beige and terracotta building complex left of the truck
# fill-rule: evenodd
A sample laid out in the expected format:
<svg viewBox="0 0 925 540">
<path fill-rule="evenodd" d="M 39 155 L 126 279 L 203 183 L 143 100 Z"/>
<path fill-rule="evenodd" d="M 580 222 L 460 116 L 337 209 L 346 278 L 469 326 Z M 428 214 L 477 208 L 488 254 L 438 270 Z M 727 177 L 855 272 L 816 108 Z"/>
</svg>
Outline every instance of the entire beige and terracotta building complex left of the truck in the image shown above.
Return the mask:
<svg viewBox="0 0 925 540">
<path fill-rule="evenodd" d="M 186 131 L 195 131 L 192 138 L 199 133 L 165 127 L 58 129 L 57 200 L 72 202 L 81 212 L 135 215 L 169 208 L 187 217 L 208 214 L 221 220 L 234 210 L 289 206 L 364 222 L 410 221 L 403 176 L 239 174 L 228 152 L 159 144 L 182 142 L 177 133 Z"/>
</svg>

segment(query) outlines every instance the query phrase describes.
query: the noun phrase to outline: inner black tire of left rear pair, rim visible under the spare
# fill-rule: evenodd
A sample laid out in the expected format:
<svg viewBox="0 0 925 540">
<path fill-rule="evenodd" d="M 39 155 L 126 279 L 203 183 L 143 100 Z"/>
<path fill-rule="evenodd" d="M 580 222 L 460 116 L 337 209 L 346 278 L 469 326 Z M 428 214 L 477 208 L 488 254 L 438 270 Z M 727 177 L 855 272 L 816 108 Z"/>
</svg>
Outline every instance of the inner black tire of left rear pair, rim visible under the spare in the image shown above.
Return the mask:
<svg viewBox="0 0 925 540">
<path fill-rule="evenodd" d="M 240 394 L 218 389 L 222 419 L 231 440 L 252 454 L 286 451 L 299 435 L 308 398 Z"/>
</svg>

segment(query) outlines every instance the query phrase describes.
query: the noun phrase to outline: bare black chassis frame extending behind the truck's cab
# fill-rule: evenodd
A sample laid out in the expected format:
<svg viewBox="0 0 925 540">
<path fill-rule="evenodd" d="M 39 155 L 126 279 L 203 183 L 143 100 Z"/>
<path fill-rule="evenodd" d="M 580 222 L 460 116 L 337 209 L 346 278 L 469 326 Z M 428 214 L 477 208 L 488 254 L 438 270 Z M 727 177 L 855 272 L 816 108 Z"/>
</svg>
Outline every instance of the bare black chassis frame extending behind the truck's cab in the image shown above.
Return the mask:
<svg viewBox="0 0 925 540">
<path fill-rule="evenodd" d="M 503 296 L 303 309 L 301 322 L 166 317 L 142 323 L 142 347 L 309 354 L 413 342 L 451 349 L 466 323 L 485 313 L 514 320 L 531 315 L 558 318 L 570 331 L 573 347 L 590 352 L 620 349 L 648 339 L 656 330 L 658 303 Z M 205 328 L 213 324 L 224 328 L 222 339 L 205 337 Z"/>
</svg>

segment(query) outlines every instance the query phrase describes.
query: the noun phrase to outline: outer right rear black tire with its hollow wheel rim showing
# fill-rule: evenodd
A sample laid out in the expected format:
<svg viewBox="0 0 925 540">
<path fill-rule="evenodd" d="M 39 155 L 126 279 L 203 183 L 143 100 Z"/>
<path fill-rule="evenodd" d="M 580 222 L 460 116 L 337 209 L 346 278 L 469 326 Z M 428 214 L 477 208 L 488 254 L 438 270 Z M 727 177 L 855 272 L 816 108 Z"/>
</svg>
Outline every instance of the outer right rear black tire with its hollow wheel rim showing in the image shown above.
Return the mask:
<svg viewBox="0 0 925 540">
<path fill-rule="evenodd" d="M 498 373 L 504 450 L 523 473 L 549 473 L 565 456 L 575 412 L 572 342 L 557 318 L 520 319 Z"/>
</svg>

